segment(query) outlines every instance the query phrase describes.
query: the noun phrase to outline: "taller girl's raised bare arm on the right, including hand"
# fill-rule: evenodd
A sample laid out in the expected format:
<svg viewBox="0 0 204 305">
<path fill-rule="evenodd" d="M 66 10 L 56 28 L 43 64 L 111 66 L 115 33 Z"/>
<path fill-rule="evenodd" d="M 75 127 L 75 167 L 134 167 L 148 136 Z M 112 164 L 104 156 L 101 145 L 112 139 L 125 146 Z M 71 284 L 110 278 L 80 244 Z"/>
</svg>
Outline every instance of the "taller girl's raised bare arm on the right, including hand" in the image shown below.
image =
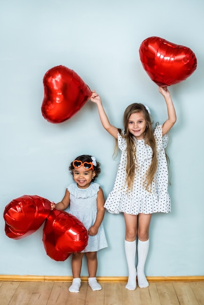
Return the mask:
<svg viewBox="0 0 204 305">
<path fill-rule="evenodd" d="M 168 133 L 171 127 L 176 123 L 176 112 L 171 99 L 170 92 L 168 91 L 167 87 L 159 87 L 159 92 L 163 95 L 165 99 L 168 113 L 168 118 L 162 125 L 162 134 L 164 135 Z"/>
</svg>

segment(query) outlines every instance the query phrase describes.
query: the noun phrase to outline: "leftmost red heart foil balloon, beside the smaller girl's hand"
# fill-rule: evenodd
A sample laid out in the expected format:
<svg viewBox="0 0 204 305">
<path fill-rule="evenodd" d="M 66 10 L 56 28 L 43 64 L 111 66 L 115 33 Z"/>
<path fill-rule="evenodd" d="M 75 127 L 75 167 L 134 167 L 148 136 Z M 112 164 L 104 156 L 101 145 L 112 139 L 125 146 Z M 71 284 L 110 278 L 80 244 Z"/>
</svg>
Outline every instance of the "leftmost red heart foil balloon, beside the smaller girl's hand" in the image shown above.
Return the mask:
<svg viewBox="0 0 204 305">
<path fill-rule="evenodd" d="M 5 233 L 9 238 L 26 237 L 41 227 L 50 213 L 51 202 L 37 195 L 13 199 L 4 209 Z"/>
</svg>

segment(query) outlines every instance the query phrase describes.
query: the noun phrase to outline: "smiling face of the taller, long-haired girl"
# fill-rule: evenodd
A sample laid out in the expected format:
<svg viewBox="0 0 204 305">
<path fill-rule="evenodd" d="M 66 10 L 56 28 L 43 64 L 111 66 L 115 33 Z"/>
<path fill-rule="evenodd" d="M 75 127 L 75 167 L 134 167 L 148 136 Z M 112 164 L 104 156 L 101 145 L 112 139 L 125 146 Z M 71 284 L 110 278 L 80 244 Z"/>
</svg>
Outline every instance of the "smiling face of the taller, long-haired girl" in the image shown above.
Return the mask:
<svg viewBox="0 0 204 305">
<path fill-rule="evenodd" d="M 144 118 L 143 112 L 131 114 L 128 120 L 128 130 L 137 140 L 144 139 L 144 132 L 146 130 L 147 122 Z"/>
</svg>

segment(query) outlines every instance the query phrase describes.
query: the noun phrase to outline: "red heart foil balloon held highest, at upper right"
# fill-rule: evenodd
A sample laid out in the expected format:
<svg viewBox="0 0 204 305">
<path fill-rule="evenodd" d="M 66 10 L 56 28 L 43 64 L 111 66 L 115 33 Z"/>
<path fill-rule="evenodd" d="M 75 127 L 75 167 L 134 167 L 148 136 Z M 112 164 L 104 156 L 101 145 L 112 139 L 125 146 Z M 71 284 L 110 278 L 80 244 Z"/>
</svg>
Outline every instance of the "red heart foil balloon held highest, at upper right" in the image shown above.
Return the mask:
<svg viewBox="0 0 204 305">
<path fill-rule="evenodd" d="M 143 40 L 139 54 L 144 70 L 160 87 L 185 80 L 197 67 L 196 56 L 189 48 L 160 37 Z"/>
</svg>

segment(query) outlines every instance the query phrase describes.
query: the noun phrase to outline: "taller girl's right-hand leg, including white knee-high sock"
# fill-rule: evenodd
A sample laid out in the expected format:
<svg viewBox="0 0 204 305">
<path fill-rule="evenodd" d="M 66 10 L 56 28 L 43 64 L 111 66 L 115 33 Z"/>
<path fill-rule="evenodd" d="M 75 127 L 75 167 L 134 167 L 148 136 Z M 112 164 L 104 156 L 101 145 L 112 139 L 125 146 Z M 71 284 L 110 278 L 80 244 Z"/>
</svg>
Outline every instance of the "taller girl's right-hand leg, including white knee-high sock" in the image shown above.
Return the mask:
<svg viewBox="0 0 204 305">
<path fill-rule="evenodd" d="M 141 288 L 148 287 L 149 283 L 144 274 L 144 265 L 149 250 L 149 225 L 151 214 L 139 214 L 138 216 L 138 285 Z"/>
</svg>

